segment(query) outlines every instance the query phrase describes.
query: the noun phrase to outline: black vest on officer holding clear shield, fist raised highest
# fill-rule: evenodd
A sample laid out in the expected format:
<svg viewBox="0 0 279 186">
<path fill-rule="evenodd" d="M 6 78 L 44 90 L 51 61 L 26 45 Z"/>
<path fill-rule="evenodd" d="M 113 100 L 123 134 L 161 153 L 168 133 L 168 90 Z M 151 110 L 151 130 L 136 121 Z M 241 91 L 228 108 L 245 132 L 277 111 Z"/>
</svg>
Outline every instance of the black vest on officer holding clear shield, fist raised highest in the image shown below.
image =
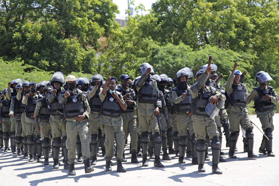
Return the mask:
<svg viewBox="0 0 279 186">
<path fill-rule="evenodd" d="M 216 89 L 210 86 L 210 90 L 201 90 L 198 92 L 198 96 L 193 99 L 193 114 L 197 116 L 208 117 L 205 112 L 205 107 L 209 103 L 209 98 L 216 94 Z"/>
</svg>

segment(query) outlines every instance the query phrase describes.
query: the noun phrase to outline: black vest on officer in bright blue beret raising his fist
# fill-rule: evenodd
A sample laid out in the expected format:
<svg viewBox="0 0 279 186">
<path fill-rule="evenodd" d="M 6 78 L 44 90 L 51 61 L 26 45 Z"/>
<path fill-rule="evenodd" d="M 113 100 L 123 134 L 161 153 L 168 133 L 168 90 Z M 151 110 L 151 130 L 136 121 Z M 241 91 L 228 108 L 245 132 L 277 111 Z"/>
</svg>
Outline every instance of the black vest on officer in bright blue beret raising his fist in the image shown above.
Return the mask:
<svg viewBox="0 0 279 186">
<path fill-rule="evenodd" d="M 232 93 L 230 94 L 230 104 L 235 107 L 246 107 L 246 86 L 232 84 Z"/>
</svg>

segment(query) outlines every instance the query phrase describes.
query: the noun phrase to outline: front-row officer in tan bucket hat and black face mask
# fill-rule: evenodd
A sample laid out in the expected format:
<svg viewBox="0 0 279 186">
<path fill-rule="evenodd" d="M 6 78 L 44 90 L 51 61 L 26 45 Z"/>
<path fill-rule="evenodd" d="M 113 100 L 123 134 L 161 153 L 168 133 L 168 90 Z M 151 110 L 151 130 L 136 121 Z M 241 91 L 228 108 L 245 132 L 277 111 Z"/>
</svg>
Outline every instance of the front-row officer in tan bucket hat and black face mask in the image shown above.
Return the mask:
<svg viewBox="0 0 279 186">
<path fill-rule="evenodd" d="M 67 141 L 66 147 L 68 149 L 68 163 L 69 163 L 69 175 L 75 176 L 74 163 L 76 160 L 76 140 L 77 135 L 81 139 L 81 147 L 83 154 L 83 162 L 85 173 L 94 171 L 93 167 L 90 167 L 90 150 L 89 143 L 91 136 L 89 134 L 88 123 L 90 107 L 84 92 L 76 89 L 75 76 L 67 76 L 65 82 L 69 89 L 63 90 L 58 96 L 59 103 L 64 105 L 64 112 L 66 117 L 66 132 Z"/>
</svg>

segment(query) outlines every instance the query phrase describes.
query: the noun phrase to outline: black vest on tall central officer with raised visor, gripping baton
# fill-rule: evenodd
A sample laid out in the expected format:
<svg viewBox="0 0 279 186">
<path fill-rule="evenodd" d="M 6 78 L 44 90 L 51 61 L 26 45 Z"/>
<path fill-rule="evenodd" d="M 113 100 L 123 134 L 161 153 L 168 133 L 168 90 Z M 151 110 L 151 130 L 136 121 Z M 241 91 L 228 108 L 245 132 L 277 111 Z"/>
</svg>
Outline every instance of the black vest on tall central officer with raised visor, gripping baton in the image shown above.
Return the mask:
<svg viewBox="0 0 279 186">
<path fill-rule="evenodd" d="M 144 85 L 138 92 L 138 101 L 140 103 L 156 104 L 158 99 L 158 92 L 155 87 L 155 80 L 145 81 Z"/>
</svg>

